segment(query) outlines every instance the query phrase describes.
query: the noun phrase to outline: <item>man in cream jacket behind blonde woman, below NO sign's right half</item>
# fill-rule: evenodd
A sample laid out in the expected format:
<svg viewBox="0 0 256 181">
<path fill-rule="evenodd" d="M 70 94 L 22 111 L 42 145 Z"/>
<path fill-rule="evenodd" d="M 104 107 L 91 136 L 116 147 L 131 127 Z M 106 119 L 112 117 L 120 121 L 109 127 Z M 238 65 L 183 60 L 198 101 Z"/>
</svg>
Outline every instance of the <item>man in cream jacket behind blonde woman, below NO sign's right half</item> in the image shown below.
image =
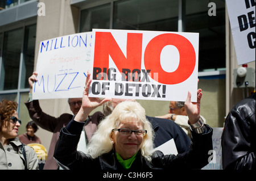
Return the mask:
<svg viewBox="0 0 256 181">
<path fill-rule="evenodd" d="M 182 101 L 170 101 L 168 114 L 163 116 L 156 116 L 156 117 L 174 121 L 183 129 L 183 131 L 190 138 L 191 133 L 190 133 L 189 124 L 188 124 L 188 115 L 185 110 L 184 104 L 185 102 L 182 102 Z M 203 119 L 204 123 L 206 123 L 205 118 L 203 116 L 201 116 L 201 118 Z"/>
</svg>

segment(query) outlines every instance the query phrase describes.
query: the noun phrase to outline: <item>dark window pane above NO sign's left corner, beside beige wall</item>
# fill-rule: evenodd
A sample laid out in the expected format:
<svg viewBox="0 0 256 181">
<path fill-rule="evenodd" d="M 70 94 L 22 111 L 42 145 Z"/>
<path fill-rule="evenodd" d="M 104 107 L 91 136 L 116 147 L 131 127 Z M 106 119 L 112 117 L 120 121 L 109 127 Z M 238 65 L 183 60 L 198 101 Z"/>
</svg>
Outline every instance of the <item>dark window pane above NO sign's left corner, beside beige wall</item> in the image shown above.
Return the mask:
<svg viewBox="0 0 256 181">
<path fill-rule="evenodd" d="M 81 11 L 80 32 L 92 31 L 93 28 L 109 29 L 110 4 Z"/>
</svg>

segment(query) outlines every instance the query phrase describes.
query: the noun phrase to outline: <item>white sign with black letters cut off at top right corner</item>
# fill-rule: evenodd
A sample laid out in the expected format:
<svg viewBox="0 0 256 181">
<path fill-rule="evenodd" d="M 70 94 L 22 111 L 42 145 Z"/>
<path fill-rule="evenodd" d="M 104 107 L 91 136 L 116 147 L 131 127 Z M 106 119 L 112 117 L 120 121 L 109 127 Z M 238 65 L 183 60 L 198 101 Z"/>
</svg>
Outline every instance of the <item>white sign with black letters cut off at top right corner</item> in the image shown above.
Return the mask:
<svg viewBox="0 0 256 181">
<path fill-rule="evenodd" d="M 255 0 L 226 0 L 238 65 L 255 61 Z"/>
</svg>

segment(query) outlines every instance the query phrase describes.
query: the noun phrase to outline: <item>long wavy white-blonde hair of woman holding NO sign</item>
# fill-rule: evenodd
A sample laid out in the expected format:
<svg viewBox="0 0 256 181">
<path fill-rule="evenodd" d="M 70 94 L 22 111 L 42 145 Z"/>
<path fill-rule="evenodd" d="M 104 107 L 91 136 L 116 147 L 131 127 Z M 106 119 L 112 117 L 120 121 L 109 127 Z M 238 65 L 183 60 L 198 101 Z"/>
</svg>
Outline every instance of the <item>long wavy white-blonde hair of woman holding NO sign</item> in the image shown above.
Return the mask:
<svg viewBox="0 0 256 181">
<path fill-rule="evenodd" d="M 130 119 L 138 121 L 143 129 L 147 130 L 147 134 L 143 137 L 141 144 L 141 153 L 148 161 L 151 161 L 150 155 L 154 150 L 154 130 L 151 123 L 146 119 L 145 110 L 141 104 L 131 101 L 119 103 L 113 112 L 101 121 L 88 144 L 87 153 L 92 158 L 97 158 L 112 150 L 114 146 L 111 140 L 112 129 Z"/>
</svg>

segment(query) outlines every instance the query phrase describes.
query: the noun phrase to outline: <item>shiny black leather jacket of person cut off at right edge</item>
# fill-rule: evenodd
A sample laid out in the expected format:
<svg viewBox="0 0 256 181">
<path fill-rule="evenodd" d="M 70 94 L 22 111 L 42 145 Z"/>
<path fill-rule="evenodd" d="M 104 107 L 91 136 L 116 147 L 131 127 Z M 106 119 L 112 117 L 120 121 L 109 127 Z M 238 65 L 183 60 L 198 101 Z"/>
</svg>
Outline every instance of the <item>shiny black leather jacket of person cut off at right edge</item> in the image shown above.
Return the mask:
<svg viewBox="0 0 256 181">
<path fill-rule="evenodd" d="M 221 137 L 223 169 L 253 169 L 256 165 L 255 93 L 232 108 Z"/>
</svg>

